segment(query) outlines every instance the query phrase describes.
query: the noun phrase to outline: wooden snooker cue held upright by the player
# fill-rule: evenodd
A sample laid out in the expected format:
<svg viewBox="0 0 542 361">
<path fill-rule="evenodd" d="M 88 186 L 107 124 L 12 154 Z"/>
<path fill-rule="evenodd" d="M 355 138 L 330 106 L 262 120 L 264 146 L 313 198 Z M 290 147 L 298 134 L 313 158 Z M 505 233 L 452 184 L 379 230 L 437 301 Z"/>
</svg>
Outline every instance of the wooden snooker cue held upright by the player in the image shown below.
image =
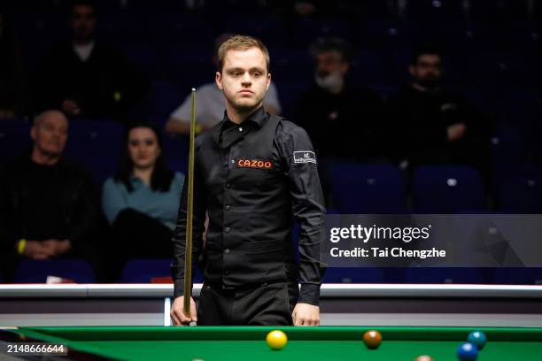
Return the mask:
<svg viewBox="0 0 542 361">
<path fill-rule="evenodd" d="M 189 144 L 189 173 L 188 173 L 188 199 L 186 215 L 186 248 L 184 253 L 184 314 L 190 315 L 190 298 L 192 296 L 192 217 L 194 214 L 194 138 L 196 135 L 196 89 L 192 88 L 190 118 L 190 144 Z"/>
</svg>

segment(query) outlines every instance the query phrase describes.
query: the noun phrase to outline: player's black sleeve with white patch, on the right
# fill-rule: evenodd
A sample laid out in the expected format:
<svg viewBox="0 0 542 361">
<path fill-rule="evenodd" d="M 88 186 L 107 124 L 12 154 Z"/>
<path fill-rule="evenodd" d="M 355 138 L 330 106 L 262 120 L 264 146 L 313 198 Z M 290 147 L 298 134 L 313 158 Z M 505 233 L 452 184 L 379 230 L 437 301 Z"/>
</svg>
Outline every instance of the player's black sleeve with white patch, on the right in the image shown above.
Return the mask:
<svg viewBox="0 0 542 361">
<path fill-rule="evenodd" d="M 292 211 L 299 225 L 299 303 L 317 305 L 325 266 L 321 247 L 325 237 L 325 204 L 313 144 L 301 127 L 282 132 L 278 141 L 289 180 Z"/>
</svg>

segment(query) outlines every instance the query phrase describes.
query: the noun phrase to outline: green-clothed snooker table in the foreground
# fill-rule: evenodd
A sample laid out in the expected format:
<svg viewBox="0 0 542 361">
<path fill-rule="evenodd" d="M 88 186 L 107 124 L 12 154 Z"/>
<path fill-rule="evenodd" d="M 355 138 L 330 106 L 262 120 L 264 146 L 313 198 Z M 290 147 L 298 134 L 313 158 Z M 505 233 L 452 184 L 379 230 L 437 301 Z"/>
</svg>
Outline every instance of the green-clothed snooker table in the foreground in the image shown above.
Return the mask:
<svg viewBox="0 0 542 361">
<path fill-rule="evenodd" d="M 282 350 L 269 349 L 265 338 L 278 328 L 289 337 Z M 68 358 L 119 360 L 414 360 L 429 354 L 437 361 L 457 360 L 468 327 L 376 327 L 383 335 L 378 349 L 367 349 L 367 326 L 132 326 L 20 327 L 12 334 L 26 340 L 61 342 Z M 542 359 L 542 328 L 480 327 L 488 339 L 478 360 Z M 75 351 L 74 351 L 75 350 Z M 62 357 L 62 359 L 66 359 Z"/>
</svg>

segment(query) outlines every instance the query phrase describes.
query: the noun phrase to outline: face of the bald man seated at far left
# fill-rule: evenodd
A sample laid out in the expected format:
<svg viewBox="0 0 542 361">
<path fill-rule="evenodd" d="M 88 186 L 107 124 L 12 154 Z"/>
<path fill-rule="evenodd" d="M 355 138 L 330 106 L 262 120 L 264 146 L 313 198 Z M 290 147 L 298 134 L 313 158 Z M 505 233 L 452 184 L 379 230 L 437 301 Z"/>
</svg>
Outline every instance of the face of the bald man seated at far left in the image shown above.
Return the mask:
<svg viewBox="0 0 542 361">
<path fill-rule="evenodd" d="M 66 146 L 68 122 L 60 113 L 51 112 L 32 127 L 35 147 L 44 154 L 59 156 Z"/>
</svg>

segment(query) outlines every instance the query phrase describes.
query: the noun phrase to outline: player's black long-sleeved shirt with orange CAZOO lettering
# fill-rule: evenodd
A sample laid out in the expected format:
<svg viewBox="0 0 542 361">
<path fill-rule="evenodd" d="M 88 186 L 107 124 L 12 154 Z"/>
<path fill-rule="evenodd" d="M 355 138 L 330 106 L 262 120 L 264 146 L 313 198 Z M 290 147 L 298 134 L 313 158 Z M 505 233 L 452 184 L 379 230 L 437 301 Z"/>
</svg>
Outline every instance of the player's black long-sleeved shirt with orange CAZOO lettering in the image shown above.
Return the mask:
<svg viewBox="0 0 542 361">
<path fill-rule="evenodd" d="M 174 296 L 183 294 L 187 184 L 173 238 Z M 197 137 L 193 264 L 203 255 L 205 282 L 241 287 L 299 279 L 298 302 L 318 304 L 324 215 L 316 157 L 301 127 L 259 108 L 240 125 L 225 116 Z"/>
</svg>

